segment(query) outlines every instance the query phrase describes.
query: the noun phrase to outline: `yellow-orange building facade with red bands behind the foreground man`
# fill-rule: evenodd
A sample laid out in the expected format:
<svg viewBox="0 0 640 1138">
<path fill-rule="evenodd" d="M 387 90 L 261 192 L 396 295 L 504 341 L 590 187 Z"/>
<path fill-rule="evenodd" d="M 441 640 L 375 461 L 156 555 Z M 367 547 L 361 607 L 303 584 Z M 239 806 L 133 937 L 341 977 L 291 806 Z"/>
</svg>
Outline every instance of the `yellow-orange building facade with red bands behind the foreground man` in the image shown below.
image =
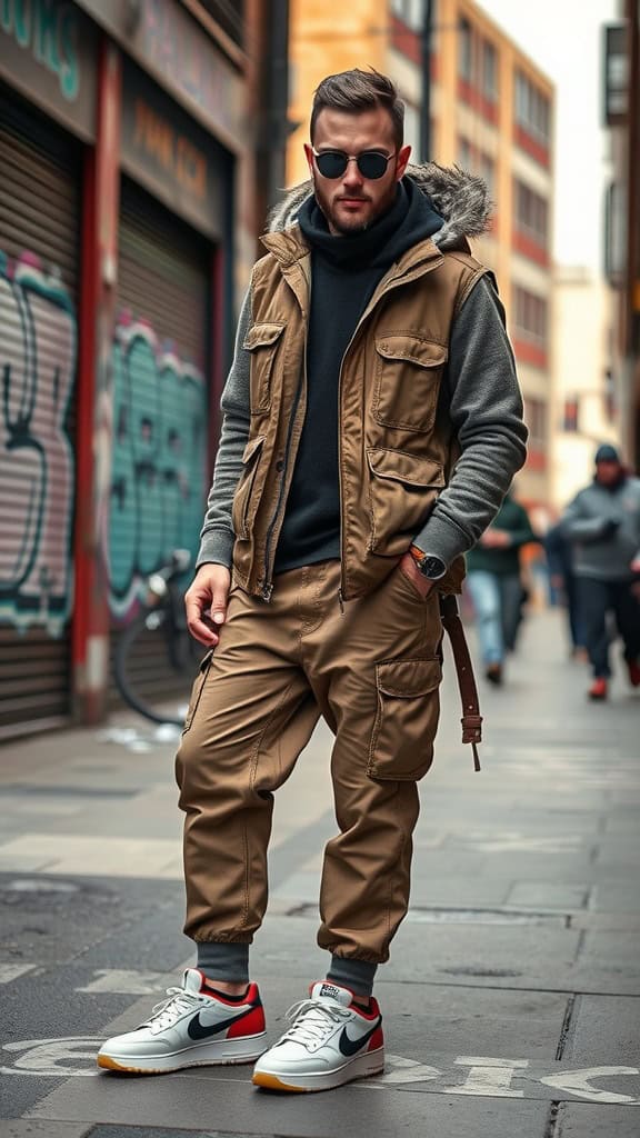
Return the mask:
<svg viewBox="0 0 640 1138">
<path fill-rule="evenodd" d="M 323 75 L 369 66 L 392 75 L 405 102 L 405 140 L 420 156 L 481 174 L 495 201 L 491 231 L 474 253 L 494 270 L 518 362 L 530 453 L 518 494 L 539 511 L 550 500 L 551 215 L 553 88 L 533 61 L 469 0 L 437 0 L 425 65 L 424 0 L 292 3 L 292 104 L 298 123 L 288 181 L 306 178 L 313 91 Z M 421 121 L 429 72 L 429 123 Z"/>
</svg>

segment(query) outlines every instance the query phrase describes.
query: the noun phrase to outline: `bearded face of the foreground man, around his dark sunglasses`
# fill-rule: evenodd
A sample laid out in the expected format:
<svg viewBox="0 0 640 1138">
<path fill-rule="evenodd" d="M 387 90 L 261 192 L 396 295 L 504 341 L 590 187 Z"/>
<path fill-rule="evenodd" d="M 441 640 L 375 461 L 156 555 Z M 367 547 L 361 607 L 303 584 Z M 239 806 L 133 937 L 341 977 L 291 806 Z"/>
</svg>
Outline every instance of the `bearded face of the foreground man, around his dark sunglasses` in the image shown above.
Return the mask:
<svg viewBox="0 0 640 1138">
<path fill-rule="evenodd" d="M 311 171 L 315 199 L 320 206 L 329 231 L 336 236 L 359 233 L 395 200 L 396 185 L 403 176 L 411 154 L 411 147 L 396 149 L 393 123 L 388 110 L 375 107 L 361 114 L 348 114 L 326 107 L 315 121 L 312 146 L 305 146 L 306 160 Z M 350 162 L 339 178 L 323 178 L 313 157 L 313 150 L 343 150 L 358 156 L 364 150 L 377 150 L 393 155 L 381 178 L 367 179 L 358 164 Z"/>
</svg>

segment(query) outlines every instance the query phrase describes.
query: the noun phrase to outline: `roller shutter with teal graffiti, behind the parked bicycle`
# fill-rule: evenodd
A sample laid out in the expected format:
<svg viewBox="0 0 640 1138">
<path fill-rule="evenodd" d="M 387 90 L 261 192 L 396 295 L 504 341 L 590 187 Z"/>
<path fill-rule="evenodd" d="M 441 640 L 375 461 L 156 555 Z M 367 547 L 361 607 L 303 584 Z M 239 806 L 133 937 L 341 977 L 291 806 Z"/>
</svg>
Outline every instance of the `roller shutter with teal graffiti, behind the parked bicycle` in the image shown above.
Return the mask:
<svg viewBox="0 0 640 1138">
<path fill-rule="evenodd" d="M 172 549 L 195 554 L 208 489 L 207 356 L 211 247 L 124 179 L 118 236 L 114 453 L 109 523 L 112 652 L 143 580 Z M 181 698 L 149 636 L 139 691 Z M 112 690 L 115 699 L 115 690 Z"/>
</svg>

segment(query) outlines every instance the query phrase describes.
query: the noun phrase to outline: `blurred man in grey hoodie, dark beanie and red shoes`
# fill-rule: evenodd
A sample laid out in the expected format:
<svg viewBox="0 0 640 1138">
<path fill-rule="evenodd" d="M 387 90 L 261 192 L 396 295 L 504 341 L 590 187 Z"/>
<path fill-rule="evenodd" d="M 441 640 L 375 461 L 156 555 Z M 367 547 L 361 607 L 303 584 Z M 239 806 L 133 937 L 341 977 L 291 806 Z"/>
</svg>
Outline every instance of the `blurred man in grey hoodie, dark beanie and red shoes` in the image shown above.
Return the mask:
<svg viewBox="0 0 640 1138">
<path fill-rule="evenodd" d="M 574 572 L 593 670 L 588 695 L 606 700 L 607 613 L 615 613 L 632 687 L 640 686 L 640 479 L 627 475 L 614 446 L 596 452 L 596 476 L 567 506 L 563 529 L 574 545 Z"/>
</svg>

